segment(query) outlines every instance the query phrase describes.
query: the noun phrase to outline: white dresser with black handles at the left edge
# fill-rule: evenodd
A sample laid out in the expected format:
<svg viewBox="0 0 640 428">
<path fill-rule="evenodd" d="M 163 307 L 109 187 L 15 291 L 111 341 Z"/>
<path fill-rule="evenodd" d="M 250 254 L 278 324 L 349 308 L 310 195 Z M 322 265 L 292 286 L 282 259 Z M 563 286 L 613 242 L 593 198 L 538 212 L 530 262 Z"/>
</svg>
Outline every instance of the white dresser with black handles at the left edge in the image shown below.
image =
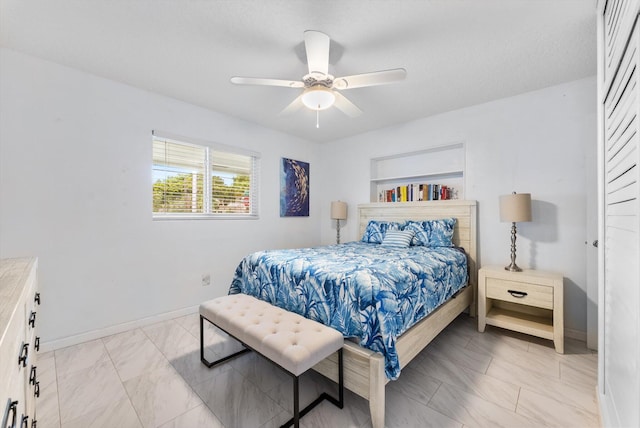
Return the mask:
<svg viewBox="0 0 640 428">
<path fill-rule="evenodd" d="M 2 428 L 36 427 L 40 384 L 36 353 L 38 259 L 0 260 L 0 420 Z"/>
</svg>

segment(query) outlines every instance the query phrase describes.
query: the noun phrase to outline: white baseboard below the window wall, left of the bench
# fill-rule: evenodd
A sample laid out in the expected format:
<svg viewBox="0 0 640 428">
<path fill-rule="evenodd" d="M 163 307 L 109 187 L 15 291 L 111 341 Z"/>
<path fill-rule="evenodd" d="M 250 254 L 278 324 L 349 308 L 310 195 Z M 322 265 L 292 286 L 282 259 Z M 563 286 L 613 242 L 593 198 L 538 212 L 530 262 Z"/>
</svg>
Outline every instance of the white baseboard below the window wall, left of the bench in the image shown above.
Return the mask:
<svg viewBox="0 0 640 428">
<path fill-rule="evenodd" d="M 79 343 L 88 342 L 90 340 L 101 339 L 113 334 L 122 333 L 133 328 L 146 327 L 157 322 L 167 321 L 173 318 L 194 314 L 198 312 L 198 307 L 199 305 L 190 306 L 187 308 L 178 309 L 176 311 L 165 312 L 147 318 L 117 324 L 111 327 L 87 331 L 85 333 L 80 333 L 74 336 L 64 337 L 62 339 L 56 339 L 49 342 L 43 342 L 40 344 L 40 352 L 55 351 L 56 349 L 66 348 L 67 346 L 73 346 Z"/>
</svg>

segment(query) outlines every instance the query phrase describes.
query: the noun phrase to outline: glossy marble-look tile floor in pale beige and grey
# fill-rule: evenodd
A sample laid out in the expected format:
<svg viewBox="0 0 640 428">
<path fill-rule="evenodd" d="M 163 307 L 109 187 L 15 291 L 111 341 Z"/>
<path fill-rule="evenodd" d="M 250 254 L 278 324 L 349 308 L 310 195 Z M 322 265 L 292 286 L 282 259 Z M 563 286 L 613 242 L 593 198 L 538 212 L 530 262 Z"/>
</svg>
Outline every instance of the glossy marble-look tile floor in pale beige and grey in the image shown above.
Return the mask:
<svg viewBox="0 0 640 428">
<path fill-rule="evenodd" d="M 213 327 L 207 352 L 236 347 Z M 38 428 L 277 427 L 291 417 L 291 378 L 254 354 L 200 363 L 197 314 L 39 355 Z M 386 388 L 387 427 L 599 427 L 597 355 L 456 319 Z M 208 358 L 214 358 L 208 354 Z M 302 405 L 324 388 L 308 372 Z M 368 403 L 345 390 L 303 427 L 369 427 Z"/>
</svg>

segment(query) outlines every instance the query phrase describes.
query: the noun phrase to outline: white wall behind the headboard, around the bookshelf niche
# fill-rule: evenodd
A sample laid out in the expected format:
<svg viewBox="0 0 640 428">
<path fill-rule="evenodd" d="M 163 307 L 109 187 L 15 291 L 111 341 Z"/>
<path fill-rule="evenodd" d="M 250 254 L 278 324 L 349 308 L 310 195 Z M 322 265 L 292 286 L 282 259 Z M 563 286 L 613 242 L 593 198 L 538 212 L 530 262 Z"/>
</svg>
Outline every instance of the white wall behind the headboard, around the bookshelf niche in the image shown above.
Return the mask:
<svg viewBox="0 0 640 428">
<path fill-rule="evenodd" d="M 428 102 L 428 100 L 425 100 Z M 596 144 L 596 80 L 587 78 L 335 141 L 322 147 L 322 242 L 335 242 L 329 202 L 349 204 L 343 241 L 369 202 L 370 158 L 464 141 L 466 199 L 478 201 L 481 265 L 509 262 L 510 224 L 498 196 L 529 192 L 533 222 L 518 225 L 517 262 L 565 275 L 565 325 L 586 330 L 585 157 Z"/>
</svg>

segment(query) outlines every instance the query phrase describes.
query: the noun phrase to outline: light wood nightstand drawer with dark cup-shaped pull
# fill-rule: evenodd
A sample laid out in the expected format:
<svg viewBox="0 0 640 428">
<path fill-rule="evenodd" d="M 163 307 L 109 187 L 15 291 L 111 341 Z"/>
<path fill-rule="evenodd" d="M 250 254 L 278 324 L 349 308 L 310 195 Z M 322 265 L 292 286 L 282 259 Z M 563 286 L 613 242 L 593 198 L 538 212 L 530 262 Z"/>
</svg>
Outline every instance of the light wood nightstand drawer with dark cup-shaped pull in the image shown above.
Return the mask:
<svg viewBox="0 0 640 428">
<path fill-rule="evenodd" d="M 553 309 L 553 287 L 499 278 L 487 278 L 486 287 L 490 299 Z"/>
</svg>

